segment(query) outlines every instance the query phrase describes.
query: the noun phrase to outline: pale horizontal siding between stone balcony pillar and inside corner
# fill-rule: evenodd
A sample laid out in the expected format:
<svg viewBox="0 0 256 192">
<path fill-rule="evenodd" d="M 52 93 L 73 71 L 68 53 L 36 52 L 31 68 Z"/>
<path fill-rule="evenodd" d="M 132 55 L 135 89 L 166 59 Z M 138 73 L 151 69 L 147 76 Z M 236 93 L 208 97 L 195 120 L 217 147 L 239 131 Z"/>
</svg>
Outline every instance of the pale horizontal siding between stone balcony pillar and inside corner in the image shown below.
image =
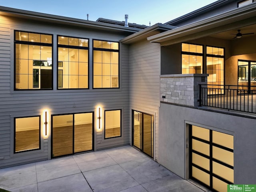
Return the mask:
<svg viewBox="0 0 256 192">
<path fill-rule="evenodd" d="M 158 158 L 158 108 L 160 106 L 160 45 L 144 40 L 130 45 L 131 109 L 156 114 L 154 157 Z"/>
</svg>

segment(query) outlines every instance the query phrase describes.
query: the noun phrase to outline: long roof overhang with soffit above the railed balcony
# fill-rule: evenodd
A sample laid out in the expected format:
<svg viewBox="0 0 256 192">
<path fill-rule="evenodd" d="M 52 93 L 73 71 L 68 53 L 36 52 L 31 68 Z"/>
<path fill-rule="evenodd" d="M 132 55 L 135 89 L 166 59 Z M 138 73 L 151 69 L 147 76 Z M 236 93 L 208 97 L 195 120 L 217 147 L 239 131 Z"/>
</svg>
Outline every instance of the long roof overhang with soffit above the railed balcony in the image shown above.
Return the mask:
<svg viewBox="0 0 256 192">
<path fill-rule="evenodd" d="M 167 46 L 253 24 L 256 24 L 256 3 L 156 34 L 147 39 L 150 42 L 160 43 L 161 46 Z"/>
</svg>

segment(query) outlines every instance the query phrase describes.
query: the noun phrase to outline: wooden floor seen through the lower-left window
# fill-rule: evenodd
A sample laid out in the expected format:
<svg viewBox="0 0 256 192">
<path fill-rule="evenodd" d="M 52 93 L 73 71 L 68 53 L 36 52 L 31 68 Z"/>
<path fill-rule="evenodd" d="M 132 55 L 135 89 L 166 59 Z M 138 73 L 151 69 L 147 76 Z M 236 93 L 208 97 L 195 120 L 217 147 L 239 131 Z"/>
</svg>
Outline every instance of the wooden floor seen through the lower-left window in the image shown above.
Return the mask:
<svg viewBox="0 0 256 192">
<path fill-rule="evenodd" d="M 39 148 L 39 130 L 17 131 L 15 151 L 24 151 Z"/>
</svg>

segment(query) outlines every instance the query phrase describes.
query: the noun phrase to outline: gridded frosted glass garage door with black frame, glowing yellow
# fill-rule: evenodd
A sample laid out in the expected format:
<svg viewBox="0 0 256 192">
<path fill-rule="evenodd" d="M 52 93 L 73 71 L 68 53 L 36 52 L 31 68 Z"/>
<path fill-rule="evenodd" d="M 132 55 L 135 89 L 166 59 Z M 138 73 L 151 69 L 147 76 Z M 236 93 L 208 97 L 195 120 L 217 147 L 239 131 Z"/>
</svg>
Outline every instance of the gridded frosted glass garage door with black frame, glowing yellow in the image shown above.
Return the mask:
<svg viewBox="0 0 256 192">
<path fill-rule="evenodd" d="M 190 125 L 190 178 L 216 191 L 234 183 L 234 136 Z"/>
</svg>

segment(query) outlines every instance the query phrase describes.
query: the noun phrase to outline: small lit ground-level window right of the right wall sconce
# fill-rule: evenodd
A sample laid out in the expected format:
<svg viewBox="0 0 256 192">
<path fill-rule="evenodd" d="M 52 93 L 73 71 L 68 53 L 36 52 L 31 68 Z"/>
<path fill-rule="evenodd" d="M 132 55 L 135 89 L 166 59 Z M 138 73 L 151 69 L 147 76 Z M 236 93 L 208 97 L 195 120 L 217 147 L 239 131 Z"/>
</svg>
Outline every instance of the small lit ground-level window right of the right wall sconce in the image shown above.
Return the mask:
<svg viewBox="0 0 256 192">
<path fill-rule="evenodd" d="M 121 110 L 105 111 L 105 139 L 121 136 Z"/>
</svg>

